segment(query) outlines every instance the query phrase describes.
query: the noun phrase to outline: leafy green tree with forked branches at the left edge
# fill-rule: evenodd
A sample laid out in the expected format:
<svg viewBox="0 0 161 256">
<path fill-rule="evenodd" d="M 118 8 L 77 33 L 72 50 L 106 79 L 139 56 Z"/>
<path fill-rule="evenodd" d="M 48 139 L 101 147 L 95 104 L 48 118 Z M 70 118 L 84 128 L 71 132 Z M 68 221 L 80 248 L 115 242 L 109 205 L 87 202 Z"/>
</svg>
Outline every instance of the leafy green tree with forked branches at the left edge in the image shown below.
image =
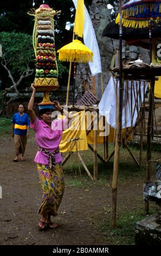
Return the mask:
<svg viewBox="0 0 161 256">
<path fill-rule="evenodd" d="M 2 45 L 1 65 L 5 75 L 8 74 L 10 78 L 4 88 L 2 87 L 2 108 L 0 111 L 2 113 L 10 102 L 17 99 L 20 94 L 18 86 L 22 80 L 33 74 L 34 51 L 31 36 L 28 34 L 1 32 L 0 38 Z M 2 76 L 4 72 L 1 68 Z M 13 90 L 15 96 L 8 99 L 7 94 Z"/>
</svg>

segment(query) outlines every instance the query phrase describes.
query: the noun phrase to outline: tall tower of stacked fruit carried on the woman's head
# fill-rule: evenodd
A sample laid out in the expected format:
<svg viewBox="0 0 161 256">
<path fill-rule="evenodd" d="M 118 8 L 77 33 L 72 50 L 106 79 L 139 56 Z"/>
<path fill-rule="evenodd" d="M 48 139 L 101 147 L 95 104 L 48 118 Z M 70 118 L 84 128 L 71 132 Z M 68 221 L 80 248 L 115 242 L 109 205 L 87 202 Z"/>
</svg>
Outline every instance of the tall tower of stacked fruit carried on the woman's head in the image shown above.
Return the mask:
<svg viewBox="0 0 161 256">
<path fill-rule="evenodd" d="M 34 84 L 38 90 L 54 90 L 59 87 L 58 70 L 55 55 L 54 15 L 55 11 L 47 4 L 42 4 L 34 10 L 35 26 L 33 45 L 36 55 L 36 74 Z"/>
</svg>

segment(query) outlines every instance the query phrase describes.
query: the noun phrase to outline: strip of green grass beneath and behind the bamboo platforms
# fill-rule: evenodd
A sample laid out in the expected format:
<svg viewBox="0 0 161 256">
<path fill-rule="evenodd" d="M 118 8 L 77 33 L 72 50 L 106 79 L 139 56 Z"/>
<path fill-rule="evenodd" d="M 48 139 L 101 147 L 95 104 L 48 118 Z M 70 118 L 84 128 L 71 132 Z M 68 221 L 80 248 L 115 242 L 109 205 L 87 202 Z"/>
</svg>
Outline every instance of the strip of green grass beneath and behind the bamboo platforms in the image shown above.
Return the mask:
<svg viewBox="0 0 161 256">
<path fill-rule="evenodd" d="M 131 146 L 130 146 L 131 147 Z M 109 151 L 110 153 L 113 150 L 113 145 L 109 143 Z M 102 145 L 99 145 L 98 152 L 102 156 Z M 139 160 L 139 151 L 137 148 L 131 147 L 131 151 Z M 161 145 L 160 145 L 161 151 Z M 93 175 L 93 153 L 91 150 L 81 151 L 81 156 L 83 161 L 85 162 L 89 172 Z M 66 154 L 63 154 L 65 157 Z M 152 157 L 160 156 L 158 152 L 152 152 Z M 81 171 L 81 176 L 79 172 L 79 167 Z M 78 157 L 76 157 L 76 153 L 70 156 L 69 160 L 63 166 L 64 172 L 70 176 L 70 179 L 78 179 L 81 181 L 82 185 L 85 185 L 86 182 L 91 181 L 83 168 L 82 164 L 79 163 Z M 156 170 L 156 163 L 152 163 L 152 171 Z M 143 161 L 140 168 L 137 167 L 136 163 L 133 161 L 132 157 L 128 153 L 128 151 L 121 147 L 120 148 L 120 162 L 119 162 L 119 173 L 118 173 L 118 182 L 127 181 L 130 179 L 137 178 L 145 178 L 146 173 L 146 151 L 143 151 Z M 112 182 L 113 175 L 113 158 L 108 163 L 102 163 L 98 159 L 98 180 L 95 181 L 98 185 L 106 185 Z"/>
</svg>

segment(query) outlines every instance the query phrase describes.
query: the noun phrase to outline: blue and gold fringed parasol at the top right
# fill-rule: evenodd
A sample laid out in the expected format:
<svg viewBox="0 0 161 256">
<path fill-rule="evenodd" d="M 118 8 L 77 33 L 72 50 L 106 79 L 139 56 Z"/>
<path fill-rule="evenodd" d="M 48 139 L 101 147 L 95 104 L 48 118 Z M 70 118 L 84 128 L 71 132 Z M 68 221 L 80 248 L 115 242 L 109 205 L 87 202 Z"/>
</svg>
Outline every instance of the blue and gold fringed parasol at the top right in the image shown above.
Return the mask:
<svg viewBox="0 0 161 256">
<path fill-rule="evenodd" d="M 122 6 L 122 25 L 131 28 L 149 27 L 150 62 L 152 61 L 151 21 L 161 19 L 161 0 L 130 0 Z M 120 22 L 119 15 L 116 23 Z"/>
</svg>

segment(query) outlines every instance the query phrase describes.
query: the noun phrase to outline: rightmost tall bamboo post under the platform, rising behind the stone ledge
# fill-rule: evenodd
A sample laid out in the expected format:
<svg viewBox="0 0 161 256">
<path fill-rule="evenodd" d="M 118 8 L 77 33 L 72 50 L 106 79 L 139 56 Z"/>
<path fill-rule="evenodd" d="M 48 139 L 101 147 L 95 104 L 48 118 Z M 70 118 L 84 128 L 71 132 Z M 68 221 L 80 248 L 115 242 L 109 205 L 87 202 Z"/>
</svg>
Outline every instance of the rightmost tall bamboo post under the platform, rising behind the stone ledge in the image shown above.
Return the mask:
<svg viewBox="0 0 161 256">
<path fill-rule="evenodd" d="M 146 180 L 151 178 L 151 137 L 152 137 L 152 120 L 153 120 L 153 108 L 154 108 L 154 84 L 155 78 L 151 79 L 150 95 L 149 95 L 149 117 L 147 121 L 147 163 L 146 163 Z M 149 214 L 149 202 L 145 202 L 145 214 Z"/>
</svg>

